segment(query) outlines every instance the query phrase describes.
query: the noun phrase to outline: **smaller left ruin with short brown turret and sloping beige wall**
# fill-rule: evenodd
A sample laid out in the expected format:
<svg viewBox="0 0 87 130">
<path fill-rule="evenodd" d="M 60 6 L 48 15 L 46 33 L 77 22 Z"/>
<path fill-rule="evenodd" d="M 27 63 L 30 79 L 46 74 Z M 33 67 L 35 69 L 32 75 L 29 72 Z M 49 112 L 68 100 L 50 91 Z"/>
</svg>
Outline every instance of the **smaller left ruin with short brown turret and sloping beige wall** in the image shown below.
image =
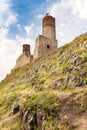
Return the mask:
<svg viewBox="0 0 87 130">
<path fill-rule="evenodd" d="M 24 44 L 23 45 L 23 52 L 16 60 L 15 68 L 22 67 L 33 60 L 33 56 L 30 53 L 30 45 Z"/>
</svg>

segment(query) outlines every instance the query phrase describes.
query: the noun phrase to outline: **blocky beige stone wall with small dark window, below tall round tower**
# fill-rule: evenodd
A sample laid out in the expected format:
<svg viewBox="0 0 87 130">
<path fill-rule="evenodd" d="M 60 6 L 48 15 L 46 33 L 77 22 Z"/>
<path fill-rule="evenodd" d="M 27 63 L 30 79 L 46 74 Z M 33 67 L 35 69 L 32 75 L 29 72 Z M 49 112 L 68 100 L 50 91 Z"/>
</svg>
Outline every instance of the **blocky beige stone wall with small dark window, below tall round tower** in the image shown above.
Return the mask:
<svg viewBox="0 0 87 130">
<path fill-rule="evenodd" d="M 36 45 L 34 49 L 34 59 L 45 55 L 51 50 L 55 50 L 57 48 L 57 40 L 49 39 L 44 37 L 43 35 L 39 35 L 36 39 Z"/>
</svg>

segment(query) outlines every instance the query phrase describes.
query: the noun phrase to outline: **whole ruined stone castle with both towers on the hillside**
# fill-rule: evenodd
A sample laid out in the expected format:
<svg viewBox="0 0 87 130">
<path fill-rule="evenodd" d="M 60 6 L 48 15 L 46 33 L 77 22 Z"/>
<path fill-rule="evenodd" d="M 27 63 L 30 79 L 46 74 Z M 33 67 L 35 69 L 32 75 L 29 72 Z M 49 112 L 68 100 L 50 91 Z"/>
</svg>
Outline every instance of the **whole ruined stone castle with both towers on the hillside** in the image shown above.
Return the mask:
<svg viewBox="0 0 87 130">
<path fill-rule="evenodd" d="M 23 45 L 23 53 L 16 61 L 15 69 L 38 59 L 51 50 L 57 49 L 55 18 L 46 15 L 42 20 L 42 35 L 36 38 L 34 55 L 30 53 L 30 45 Z"/>
</svg>

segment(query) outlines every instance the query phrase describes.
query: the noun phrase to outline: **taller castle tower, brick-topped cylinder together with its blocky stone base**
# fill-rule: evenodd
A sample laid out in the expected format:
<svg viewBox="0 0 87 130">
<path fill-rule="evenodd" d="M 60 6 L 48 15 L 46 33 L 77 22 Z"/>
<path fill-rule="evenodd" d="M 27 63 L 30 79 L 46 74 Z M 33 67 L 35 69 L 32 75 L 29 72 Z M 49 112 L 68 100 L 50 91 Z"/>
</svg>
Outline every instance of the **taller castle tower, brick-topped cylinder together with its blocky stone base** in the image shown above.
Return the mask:
<svg viewBox="0 0 87 130">
<path fill-rule="evenodd" d="M 34 59 L 57 49 L 55 18 L 47 15 L 42 20 L 42 35 L 36 39 Z"/>
</svg>

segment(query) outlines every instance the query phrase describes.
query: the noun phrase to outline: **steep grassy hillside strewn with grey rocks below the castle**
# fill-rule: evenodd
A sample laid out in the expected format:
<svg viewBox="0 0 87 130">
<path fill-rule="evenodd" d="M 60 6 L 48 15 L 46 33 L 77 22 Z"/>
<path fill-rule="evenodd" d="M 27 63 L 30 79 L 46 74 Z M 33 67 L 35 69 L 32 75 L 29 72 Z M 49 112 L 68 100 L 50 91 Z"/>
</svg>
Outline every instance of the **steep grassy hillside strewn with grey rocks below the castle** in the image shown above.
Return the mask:
<svg viewBox="0 0 87 130">
<path fill-rule="evenodd" d="M 87 130 L 87 33 L 0 83 L 1 130 Z"/>
</svg>

